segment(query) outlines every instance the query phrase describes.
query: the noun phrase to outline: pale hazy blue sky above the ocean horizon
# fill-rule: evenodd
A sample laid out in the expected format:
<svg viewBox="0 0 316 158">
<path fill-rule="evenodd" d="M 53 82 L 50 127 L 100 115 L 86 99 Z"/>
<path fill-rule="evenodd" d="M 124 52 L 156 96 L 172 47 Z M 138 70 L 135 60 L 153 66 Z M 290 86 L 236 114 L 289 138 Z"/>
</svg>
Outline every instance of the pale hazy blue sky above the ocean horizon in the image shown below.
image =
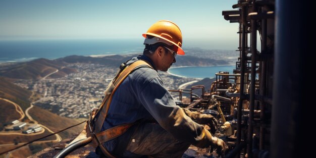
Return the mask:
<svg viewBox="0 0 316 158">
<path fill-rule="evenodd" d="M 183 46 L 236 49 L 238 24 L 223 10 L 234 0 L 47 1 L 1 0 L 0 40 L 140 39 L 156 21 L 171 20 L 182 31 Z"/>
</svg>

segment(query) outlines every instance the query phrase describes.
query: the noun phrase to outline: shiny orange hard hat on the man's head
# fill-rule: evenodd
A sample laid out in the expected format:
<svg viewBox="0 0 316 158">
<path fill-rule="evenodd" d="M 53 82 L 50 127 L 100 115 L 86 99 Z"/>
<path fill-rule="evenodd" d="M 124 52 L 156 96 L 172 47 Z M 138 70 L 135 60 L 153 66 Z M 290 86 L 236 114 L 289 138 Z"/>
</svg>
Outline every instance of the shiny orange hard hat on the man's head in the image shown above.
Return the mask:
<svg viewBox="0 0 316 158">
<path fill-rule="evenodd" d="M 154 41 L 149 41 L 147 35 L 151 35 L 155 38 Z M 182 33 L 177 24 L 169 20 L 160 20 L 154 23 L 149 27 L 146 33 L 143 33 L 143 36 L 146 38 L 144 44 L 153 44 L 156 42 L 164 42 L 168 45 L 178 46 L 177 54 L 184 55 L 184 51 L 181 48 L 182 46 Z M 162 40 L 160 40 L 160 38 Z M 146 42 L 148 41 L 148 43 Z"/>
</svg>

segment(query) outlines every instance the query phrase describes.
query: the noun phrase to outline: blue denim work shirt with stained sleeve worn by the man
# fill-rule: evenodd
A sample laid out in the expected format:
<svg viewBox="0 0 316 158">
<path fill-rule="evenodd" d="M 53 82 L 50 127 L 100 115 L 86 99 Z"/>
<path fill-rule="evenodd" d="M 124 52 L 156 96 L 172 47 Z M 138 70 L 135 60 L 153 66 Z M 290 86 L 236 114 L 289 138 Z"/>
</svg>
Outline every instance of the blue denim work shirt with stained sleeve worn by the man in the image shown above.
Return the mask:
<svg viewBox="0 0 316 158">
<path fill-rule="evenodd" d="M 146 60 L 152 65 L 151 60 L 144 55 L 132 58 L 127 64 L 137 60 Z M 202 125 L 193 122 L 176 105 L 170 92 L 165 88 L 162 78 L 154 69 L 139 68 L 129 74 L 119 85 L 113 95 L 101 131 L 141 119 L 154 119 L 178 140 L 190 142 L 199 147 L 209 145 L 212 135 Z M 132 133 L 128 130 L 123 135 L 104 142 L 103 145 L 112 152 L 116 145 L 120 145 L 120 139 L 129 141 Z"/>
</svg>

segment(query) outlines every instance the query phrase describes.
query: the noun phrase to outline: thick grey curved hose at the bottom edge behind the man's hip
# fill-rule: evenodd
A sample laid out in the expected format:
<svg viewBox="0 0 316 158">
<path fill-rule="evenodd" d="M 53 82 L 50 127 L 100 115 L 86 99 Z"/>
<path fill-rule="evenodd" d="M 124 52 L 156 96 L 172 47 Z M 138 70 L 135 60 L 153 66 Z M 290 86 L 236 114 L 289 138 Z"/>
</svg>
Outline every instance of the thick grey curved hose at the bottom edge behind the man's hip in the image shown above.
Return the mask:
<svg viewBox="0 0 316 158">
<path fill-rule="evenodd" d="M 89 144 L 92 141 L 92 137 L 88 137 L 85 139 L 78 140 L 74 142 L 73 144 L 70 144 L 66 148 L 64 148 L 62 151 L 60 151 L 57 155 L 54 156 L 54 158 L 61 158 L 67 156 L 70 152 L 76 150 L 79 147 L 85 146 Z"/>
</svg>

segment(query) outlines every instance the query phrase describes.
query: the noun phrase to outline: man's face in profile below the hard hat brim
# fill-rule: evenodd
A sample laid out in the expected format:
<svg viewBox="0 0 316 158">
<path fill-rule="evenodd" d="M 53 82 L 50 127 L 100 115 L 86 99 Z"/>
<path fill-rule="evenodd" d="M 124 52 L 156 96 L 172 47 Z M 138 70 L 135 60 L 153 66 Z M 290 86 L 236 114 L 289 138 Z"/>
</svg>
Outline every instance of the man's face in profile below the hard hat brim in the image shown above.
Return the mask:
<svg viewBox="0 0 316 158">
<path fill-rule="evenodd" d="M 175 56 L 177 55 L 177 52 L 164 46 L 162 46 L 162 48 L 164 52 L 162 54 L 160 71 L 166 72 L 171 67 L 172 63 L 176 63 Z"/>
</svg>

